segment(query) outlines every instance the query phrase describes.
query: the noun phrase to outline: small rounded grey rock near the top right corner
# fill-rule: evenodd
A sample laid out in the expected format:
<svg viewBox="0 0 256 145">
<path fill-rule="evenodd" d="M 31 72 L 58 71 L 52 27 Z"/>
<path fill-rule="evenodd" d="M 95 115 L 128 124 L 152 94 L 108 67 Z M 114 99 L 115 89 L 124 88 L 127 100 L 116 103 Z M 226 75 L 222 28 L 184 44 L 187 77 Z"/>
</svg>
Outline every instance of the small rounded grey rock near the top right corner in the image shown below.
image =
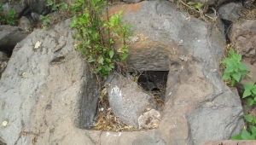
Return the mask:
<svg viewBox="0 0 256 145">
<path fill-rule="evenodd" d="M 227 3 L 221 5 L 218 9 L 220 19 L 235 22 L 241 17 L 241 3 Z"/>
</svg>

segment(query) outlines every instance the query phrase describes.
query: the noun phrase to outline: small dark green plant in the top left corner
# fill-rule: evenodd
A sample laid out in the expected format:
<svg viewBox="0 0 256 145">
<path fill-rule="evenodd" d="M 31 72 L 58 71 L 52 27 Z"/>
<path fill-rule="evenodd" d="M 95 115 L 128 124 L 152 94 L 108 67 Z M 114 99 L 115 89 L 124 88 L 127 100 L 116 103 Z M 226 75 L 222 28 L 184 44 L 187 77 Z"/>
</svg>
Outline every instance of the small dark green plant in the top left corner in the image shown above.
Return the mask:
<svg viewBox="0 0 256 145">
<path fill-rule="evenodd" d="M 0 23 L 1 24 L 8 24 L 8 25 L 11 25 L 11 26 L 14 26 L 15 23 L 16 23 L 16 20 L 15 20 L 15 10 L 10 8 L 9 9 L 9 12 L 7 14 L 4 14 L 3 13 L 3 3 L 0 3 Z"/>
</svg>

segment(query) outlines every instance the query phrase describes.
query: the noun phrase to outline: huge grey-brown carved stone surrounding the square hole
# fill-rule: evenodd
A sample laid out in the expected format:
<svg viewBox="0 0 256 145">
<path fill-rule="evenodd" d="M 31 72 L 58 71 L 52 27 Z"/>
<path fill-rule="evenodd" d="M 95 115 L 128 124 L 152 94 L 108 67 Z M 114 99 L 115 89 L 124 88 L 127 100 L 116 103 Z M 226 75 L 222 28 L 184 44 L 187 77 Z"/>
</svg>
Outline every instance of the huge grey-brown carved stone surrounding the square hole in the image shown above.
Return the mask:
<svg viewBox="0 0 256 145">
<path fill-rule="evenodd" d="M 6 77 L 0 80 L 0 122 L 9 122 L 0 126 L 2 142 L 183 145 L 240 133 L 244 125 L 240 98 L 218 74 L 223 26 L 177 12 L 174 4 L 165 1 L 116 5 L 110 14 L 119 9 L 125 9 L 124 20 L 134 26 L 134 32 L 143 34 L 131 43 L 128 67 L 169 71 L 160 127 L 133 132 L 82 130 L 90 122 L 83 120 L 93 117 L 93 110 L 86 112 L 86 108 L 96 102 L 97 85 L 73 50 L 67 20 L 49 31 L 32 32 L 15 47 L 3 73 Z M 35 49 L 38 41 L 41 47 Z M 53 61 L 56 57 L 62 61 Z M 86 102 L 91 106 L 82 105 Z"/>
</svg>

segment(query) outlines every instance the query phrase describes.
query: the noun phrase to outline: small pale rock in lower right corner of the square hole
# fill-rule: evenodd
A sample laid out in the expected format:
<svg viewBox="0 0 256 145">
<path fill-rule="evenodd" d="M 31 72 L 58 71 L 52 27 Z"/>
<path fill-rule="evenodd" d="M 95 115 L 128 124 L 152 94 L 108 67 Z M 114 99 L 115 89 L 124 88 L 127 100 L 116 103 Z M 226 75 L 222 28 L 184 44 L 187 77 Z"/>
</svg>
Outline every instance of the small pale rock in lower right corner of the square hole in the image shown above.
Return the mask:
<svg viewBox="0 0 256 145">
<path fill-rule="evenodd" d="M 154 129 L 160 125 L 161 115 L 158 111 L 151 109 L 138 118 L 139 129 Z"/>
</svg>

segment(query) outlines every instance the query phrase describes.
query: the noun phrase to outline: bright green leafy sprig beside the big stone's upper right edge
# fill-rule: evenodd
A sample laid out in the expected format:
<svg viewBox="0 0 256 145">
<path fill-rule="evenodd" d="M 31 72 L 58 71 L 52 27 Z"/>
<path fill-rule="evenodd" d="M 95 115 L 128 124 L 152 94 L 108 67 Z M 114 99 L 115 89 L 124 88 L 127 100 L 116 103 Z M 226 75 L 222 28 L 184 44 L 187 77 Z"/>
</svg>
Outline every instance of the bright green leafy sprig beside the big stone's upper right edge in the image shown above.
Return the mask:
<svg viewBox="0 0 256 145">
<path fill-rule="evenodd" d="M 221 63 L 225 67 L 222 79 L 230 79 L 231 86 L 239 82 L 242 75 L 248 73 L 247 67 L 241 63 L 241 55 L 237 55 L 234 49 L 230 49 L 228 57 L 224 61 L 221 61 Z"/>
</svg>

